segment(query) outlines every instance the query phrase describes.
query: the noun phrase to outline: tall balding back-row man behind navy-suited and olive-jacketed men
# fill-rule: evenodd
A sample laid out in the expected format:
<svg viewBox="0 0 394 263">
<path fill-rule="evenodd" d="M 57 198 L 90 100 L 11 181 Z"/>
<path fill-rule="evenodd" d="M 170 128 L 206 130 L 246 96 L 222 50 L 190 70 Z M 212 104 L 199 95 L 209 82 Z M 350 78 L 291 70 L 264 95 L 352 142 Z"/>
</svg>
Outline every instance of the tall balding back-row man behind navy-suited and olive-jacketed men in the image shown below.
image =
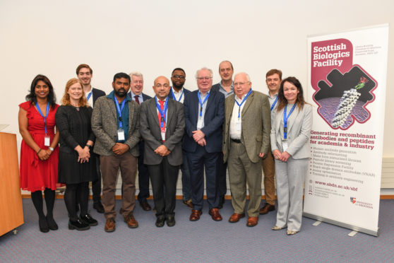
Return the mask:
<svg viewBox="0 0 394 263">
<path fill-rule="evenodd" d="M 228 60 L 220 62 L 219 74 L 222 81 L 212 86 L 212 90 L 220 91 L 227 98 L 229 95 L 234 94 L 234 86 L 232 81 L 232 74 L 234 74 L 234 68 L 232 63 Z M 225 195 L 227 193 L 227 182 L 226 182 L 226 171 L 227 163 L 223 161 L 223 153 L 220 152 L 219 158 L 217 158 L 217 191 L 219 193 L 219 209 L 222 209 L 225 204 Z"/>
</svg>

